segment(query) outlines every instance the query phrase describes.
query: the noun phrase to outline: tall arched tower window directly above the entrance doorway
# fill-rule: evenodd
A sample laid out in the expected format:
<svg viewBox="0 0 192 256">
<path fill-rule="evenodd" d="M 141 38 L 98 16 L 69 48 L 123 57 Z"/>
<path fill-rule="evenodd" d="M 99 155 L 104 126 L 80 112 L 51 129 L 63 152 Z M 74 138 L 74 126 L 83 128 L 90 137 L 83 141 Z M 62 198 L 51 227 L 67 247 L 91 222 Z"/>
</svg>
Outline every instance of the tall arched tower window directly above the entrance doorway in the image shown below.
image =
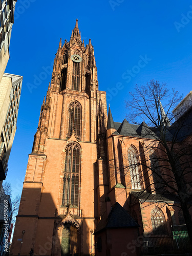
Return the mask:
<svg viewBox="0 0 192 256">
<path fill-rule="evenodd" d="M 78 207 L 80 147 L 72 142 L 66 146 L 65 168 L 63 176 L 62 205 Z"/>
</svg>

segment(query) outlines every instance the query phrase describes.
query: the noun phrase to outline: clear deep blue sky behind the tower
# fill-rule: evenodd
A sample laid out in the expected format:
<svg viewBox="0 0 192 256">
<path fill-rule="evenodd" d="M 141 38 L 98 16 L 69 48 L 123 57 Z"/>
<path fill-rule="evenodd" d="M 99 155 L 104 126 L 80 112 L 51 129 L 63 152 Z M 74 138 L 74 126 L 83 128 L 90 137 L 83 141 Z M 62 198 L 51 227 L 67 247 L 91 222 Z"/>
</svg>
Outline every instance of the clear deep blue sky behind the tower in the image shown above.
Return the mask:
<svg viewBox="0 0 192 256">
<path fill-rule="evenodd" d="M 107 92 L 114 121 L 125 118 L 136 83 L 155 79 L 184 95 L 191 90 L 191 1 L 19 0 L 6 68 L 24 76 L 6 179 L 13 195 L 22 191 L 59 39 L 70 40 L 76 18 L 81 39 L 92 39 L 99 90 Z"/>
</svg>

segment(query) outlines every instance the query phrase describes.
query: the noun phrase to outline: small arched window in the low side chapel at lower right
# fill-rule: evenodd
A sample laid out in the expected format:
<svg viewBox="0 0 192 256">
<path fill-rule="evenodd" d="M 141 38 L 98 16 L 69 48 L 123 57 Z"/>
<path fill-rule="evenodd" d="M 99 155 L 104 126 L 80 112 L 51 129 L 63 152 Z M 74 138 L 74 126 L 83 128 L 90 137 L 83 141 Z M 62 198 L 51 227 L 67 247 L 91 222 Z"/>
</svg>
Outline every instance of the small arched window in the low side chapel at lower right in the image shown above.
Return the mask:
<svg viewBox="0 0 192 256">
<path fill-rule="evenodd" d="M 161 209 L 155 207 L 151 212 L 153 231 L 165 231 L 165 217 Z"/>
</svg>

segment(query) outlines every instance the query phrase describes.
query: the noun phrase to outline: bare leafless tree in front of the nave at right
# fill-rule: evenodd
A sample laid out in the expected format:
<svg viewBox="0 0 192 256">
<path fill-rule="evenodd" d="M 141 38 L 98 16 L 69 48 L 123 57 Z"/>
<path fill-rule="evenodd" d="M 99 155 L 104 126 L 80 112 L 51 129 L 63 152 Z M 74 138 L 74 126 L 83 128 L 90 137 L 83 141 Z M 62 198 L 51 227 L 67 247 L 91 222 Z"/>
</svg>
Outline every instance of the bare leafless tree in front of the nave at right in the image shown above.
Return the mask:
<svg viewBox="0 0 192 256">
<path fill-rule="evenodd" d="M 130 165 L 126 166 L 126 172 L 140 165 L 140 178 L 144 182 L 141 190 L 175 197 L 175 201 L 179 202 L 177 206 L 183 211 L 192 244 L 189 213 L 192 205 L 191 108 L 185 104 L 173 112 L 182 100 L 182 95 L 174 89 L 168 90 L 165 83 L 160 84 L 155 80 L 145 86 L 136 86 L 131 96 L 131 100 L 126 101 L 129 111 L 127 120 L 134 124 L 143 121 L 140 136 L 149 140 L 142 144 L 137 164 L 128 159 Z"/>
</svg>

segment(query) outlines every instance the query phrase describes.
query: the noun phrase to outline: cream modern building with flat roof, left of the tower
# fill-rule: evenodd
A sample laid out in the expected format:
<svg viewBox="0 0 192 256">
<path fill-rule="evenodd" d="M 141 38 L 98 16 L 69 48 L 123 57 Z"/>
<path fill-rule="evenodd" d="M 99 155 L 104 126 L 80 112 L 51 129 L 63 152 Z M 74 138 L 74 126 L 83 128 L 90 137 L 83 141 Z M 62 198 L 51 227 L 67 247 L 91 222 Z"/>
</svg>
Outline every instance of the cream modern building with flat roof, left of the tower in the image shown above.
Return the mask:
<svg viewBox="0 0 192 256">
<path fill-rule="evenodd" d="M 0 180 L 7 175 L 13 139 L 16 132 L 16 122 L 22 90 L 23 76 L 4 73 L 0 88 Z"/>
</svg>

